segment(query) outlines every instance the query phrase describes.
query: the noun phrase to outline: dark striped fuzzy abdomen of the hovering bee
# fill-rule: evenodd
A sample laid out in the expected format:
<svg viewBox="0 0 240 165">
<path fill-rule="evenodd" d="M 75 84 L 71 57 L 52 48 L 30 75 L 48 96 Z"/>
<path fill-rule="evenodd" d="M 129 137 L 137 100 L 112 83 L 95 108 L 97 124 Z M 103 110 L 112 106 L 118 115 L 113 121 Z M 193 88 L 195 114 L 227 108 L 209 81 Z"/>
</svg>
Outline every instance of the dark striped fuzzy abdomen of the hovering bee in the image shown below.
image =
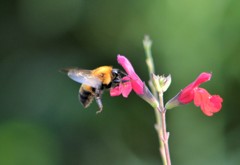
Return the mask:
<svg viewBox="0 0 240 165">
<path fill-rule="evenodd" d="M 94 98 L 94 95 L 92 92 L 89 92 L 87 90 L 84 90 L 83 88 L 80 88 L 78 98 L 79 98 L 79 101 L 84 106 L 84 108 L 87 108 L 91 104 Z"/>
</svg>

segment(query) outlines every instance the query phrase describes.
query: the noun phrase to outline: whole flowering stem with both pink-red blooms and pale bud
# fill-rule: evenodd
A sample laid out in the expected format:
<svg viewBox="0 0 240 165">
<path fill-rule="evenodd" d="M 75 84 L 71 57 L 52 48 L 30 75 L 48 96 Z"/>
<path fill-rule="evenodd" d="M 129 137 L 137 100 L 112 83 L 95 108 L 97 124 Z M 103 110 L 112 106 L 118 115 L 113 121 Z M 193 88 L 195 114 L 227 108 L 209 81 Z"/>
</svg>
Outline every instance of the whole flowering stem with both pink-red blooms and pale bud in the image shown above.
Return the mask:
<svg viewBox="0 0 240 165">
<path fill-rule="evenodd" d="M 155 68 L 152 58 L 151 46 L 152 41 L 148 36 L 143 40 L 143 46 L 146 53 L 146 63 L 149 71 L 149 86 L 140 79 L 134 70 L 131 62 L 123 55 L 117 56 L 118 63 L 126 71 L 126 76 L 118 86 L 110 89 L 111 96 L 119 96 L 127 98 L 131 91 L 134 91 L 144 101 L 148 102 L 154 109 L 157 131 L 159 140 L 159 151 L 164 165 L 171 165 L 169 151 L 169 135 L 166 124 L 166 113 L 168 109 L 194 102 L 197 107 L 200 107 L 206 116 L 212 116 L 222 108 L 223 99 L 219 95 L 211 95 L 206 89 L 199 87 L 202 83 L 211 79 L 212 74 L 203 72 L 195 81 L 186 86 L 183 90 L 170 99 L 166 105 L 164 104 L 163 94 L 171 84 L 171 75 L 165 77 L 155 75 Z"/>
</svg>

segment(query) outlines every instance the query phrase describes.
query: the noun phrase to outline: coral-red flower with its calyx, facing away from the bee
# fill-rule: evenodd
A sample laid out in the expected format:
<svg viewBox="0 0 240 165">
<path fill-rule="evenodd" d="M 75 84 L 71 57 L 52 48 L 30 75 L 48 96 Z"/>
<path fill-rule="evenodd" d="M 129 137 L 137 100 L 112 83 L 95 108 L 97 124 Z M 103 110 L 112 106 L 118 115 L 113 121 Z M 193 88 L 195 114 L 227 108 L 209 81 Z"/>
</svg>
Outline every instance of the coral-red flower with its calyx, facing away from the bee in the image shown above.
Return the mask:
<svg viewBox="0 0 240 165">
<path fill-rule="evenodd" d="M 181 90 L 167 104 L 166 108 L 171 109 L 180 104 L 188 104 L 194 101 L 197 107 L 200 107 L 202 112 L 207 116 L 212 116 L 219 112 L 222 108 L 223 99 L 219 95 L 211 95 L 209 92 L 199 86 L 211 79 L 212 74 L 203 72 L 197 79 Z"/>
</svg>

